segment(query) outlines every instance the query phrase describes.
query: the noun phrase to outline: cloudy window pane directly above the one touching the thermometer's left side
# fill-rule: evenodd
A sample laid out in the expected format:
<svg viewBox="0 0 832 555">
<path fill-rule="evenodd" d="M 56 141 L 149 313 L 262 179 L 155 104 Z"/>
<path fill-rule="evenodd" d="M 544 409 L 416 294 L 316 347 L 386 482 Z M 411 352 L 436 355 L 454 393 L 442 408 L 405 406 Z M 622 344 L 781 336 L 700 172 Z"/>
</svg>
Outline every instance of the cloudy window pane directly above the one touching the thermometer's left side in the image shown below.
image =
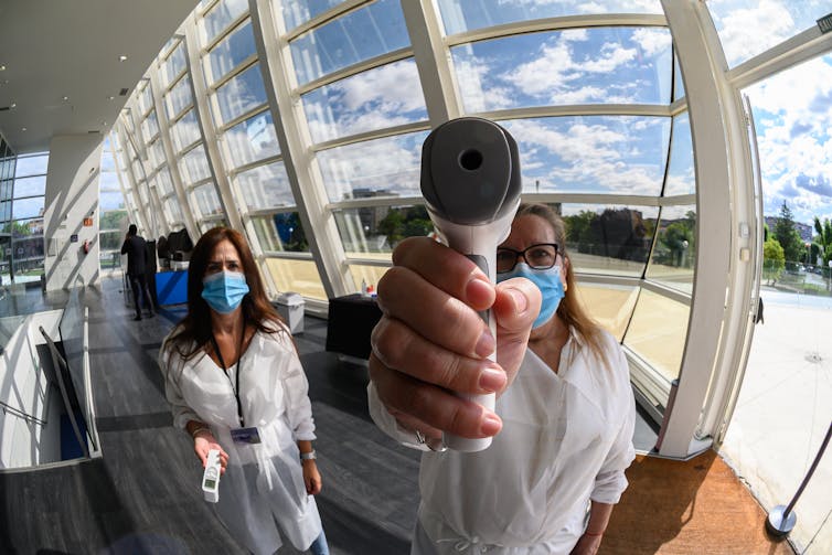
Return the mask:
<svg viewBox="0 0 832 555">
<path fill-rule="evenodd" d="M 314 142 L 427 119 L 412 58 L 320 87 L 302 102 Z"/>
</svg>

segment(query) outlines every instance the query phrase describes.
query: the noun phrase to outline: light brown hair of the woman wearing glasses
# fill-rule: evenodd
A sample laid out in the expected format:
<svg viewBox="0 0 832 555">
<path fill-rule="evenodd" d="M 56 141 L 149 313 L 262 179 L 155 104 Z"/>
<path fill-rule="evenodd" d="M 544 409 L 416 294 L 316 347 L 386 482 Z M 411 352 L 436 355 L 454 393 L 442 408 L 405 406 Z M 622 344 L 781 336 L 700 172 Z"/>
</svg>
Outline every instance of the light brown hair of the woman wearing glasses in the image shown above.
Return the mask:
<svg viewBox="0 0 832 555">
<path fill-rule="evenodd" d="M 518 207 L 518 213 L 514 217 L 533 215 L 542 217 L 552 226 L 555 231 L 555 242 L 557 243 L 557 252 L 564 259 L 568 259 L 569 255 L 566 253 L 566 225 L 561 216 L 552 209 L 552 206 L 542 203 L 523 203 Z M 561 300 L 561 305 L 557 307 L 557 316 L 561 320 L 570 327 L 578 337 L 586 342 L 589 348 L 597 354 L 604 352 L 601 346 L 601 327 L 593 320 L 593 318 L 586 312 L 584 306 L 578 299 L 576 291 L 577 280 L 575 279 L 575 273 L 572 269 L 572 260 L 566 266 L 566 291 L 564 298 Z"/>
</svg>

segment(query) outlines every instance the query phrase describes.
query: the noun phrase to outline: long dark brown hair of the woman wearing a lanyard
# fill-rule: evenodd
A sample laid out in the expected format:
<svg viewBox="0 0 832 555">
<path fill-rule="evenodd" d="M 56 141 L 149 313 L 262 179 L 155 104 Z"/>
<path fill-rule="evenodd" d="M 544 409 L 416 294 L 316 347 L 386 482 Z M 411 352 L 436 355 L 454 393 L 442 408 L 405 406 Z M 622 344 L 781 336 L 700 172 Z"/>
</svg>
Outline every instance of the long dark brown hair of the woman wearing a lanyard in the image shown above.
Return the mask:
<svg viewBox="0 0 832 555">
<path fill-rule="evenodd" d="M 211 253 L 223 241 L 230 241 L 237 249 L 248 284 L 248 292 L 243 297 L 242 303 L 246 325 L 266 333 L 285 332 L 282 319 L 266 297 L 260 273 L 243 234 L 231 227 L 214 227 L 200 237 L 191 252 L 191 260 L 188 264 L 188 314 L 177 324 L 175 331 L 163 346 L 170 349 L 171 345 L 175 345 L 179 354 L 185 360 L 191 359 L 211 342 L 211 308 L 202 298 L 202 280 Z M 273 322 L 273 325 L 269 325 L 269 322 Z M 189 345 L 192 344 L 193 350 L 189 351 Z"/>
</svg>

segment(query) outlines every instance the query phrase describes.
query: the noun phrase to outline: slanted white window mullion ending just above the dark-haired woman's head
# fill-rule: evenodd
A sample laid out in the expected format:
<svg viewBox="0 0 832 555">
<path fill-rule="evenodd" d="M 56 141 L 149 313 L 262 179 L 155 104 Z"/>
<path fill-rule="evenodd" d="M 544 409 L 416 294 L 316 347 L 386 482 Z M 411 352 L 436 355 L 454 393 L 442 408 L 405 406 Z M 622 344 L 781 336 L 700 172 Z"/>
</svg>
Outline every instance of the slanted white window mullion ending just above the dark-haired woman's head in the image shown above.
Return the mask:
<svg viewBox="0 0 832 555">
<path fill-rule="evenodd" d="M 220 203 L 228 217 L 228 225 L 235 230 L 244 230 L 243 220 L 239 217 L 237 203 L 228 183 L 228 175 L 225 171 L 225 164 L 220 156 L 216 129 L 211 116 L 211 109 L 207 103 L 207 90 L 205 88 L 205 76 L 200 60 L 199 36 L 196 32 L 196 19 L 193 14 L 185 21 L 185 52 L 188 67 L 191 72 L 191 88 L 193 93 L 193 109 L 196 110 L 196 121 L 200 124 L 202 141 L 207 157 L 209 169 L 214 178 L 214 183 L 220 196 Z M 200 234 L 201 235 L 201 234 Z M 250 239 L 250 237 L 249 237 Z"/>
</svg>

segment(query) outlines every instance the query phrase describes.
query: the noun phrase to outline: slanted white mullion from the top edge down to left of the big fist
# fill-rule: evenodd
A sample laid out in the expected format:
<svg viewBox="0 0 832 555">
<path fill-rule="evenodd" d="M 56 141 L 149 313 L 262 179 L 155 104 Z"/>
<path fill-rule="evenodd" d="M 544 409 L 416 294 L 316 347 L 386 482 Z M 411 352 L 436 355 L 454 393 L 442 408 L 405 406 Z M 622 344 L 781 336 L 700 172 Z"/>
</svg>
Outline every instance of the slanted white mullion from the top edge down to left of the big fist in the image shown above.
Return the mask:
<svg viewBox="0 0 832 555">
<path fill-rule="evenodd" d="M 295 72 L 284 29 L 282 14 L 268 0 L 248 0 L 263 81 L 289 184 L 306 230 L 309 249 L 328 298 L 356 290 L 344 263 L 344 249 L 335 220 L 328 209 L 323 179 L 309 148 L 312 143 L 300 98 L 294 92 Z M 276 23 L 280 23 L 276 28 Z"/>
</svg>

